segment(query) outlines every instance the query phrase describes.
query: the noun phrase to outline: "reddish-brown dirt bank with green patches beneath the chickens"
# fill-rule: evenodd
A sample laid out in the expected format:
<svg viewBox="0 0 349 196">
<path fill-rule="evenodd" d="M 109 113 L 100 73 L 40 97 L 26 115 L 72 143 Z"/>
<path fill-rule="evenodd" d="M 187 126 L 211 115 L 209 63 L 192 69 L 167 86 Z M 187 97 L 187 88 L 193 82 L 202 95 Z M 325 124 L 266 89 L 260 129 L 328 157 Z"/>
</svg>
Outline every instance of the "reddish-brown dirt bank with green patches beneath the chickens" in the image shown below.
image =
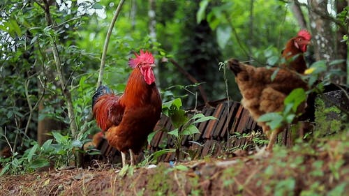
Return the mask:
<svg viewBox="0 0 349 196">
<path fill-rule="evenodd" d="M 348 150 L 347 140 L 329 140 L 156 167 L 54 169 L 1 176 L 0 195 L 345 195 Z"/>
</svg>

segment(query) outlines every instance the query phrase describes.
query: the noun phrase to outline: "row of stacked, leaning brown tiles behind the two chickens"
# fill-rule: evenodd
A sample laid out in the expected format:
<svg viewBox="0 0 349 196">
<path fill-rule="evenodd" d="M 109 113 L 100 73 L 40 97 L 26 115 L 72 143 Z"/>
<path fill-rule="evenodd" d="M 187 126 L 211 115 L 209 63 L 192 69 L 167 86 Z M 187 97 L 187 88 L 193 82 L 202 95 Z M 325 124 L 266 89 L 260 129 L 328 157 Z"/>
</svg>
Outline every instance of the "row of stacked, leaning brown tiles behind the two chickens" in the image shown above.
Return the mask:
<svg viewBox="0 0 349 196">
<path fill-rule="evenodd" d="M 223 149 L 251 149 L 254 146 L 248 145 L 252 144 L 252 142 L 247 137 L 231 136 L 236 136 L 236 133 L 251 133 L 252 130 L 261 133 L 261 128 L 257 126 L 257 123 L 253 121 L 249 115 L 248 110 L 245 110 L 240 103 L 223 101 L 218 103 L 215 107 L 203 107 L 200 112 L 205 116 L 214 116 L 218 120 L 209 120 L 195 125 L 200 130 L 200 133 L 192 137 L 184 137 L 181 146 L 182 151 L 186 153 L 182 153 L 181 158 L 185 159 L 190 156 L 194 159 L 204 158 L 205 156 L 216 156 L 219 155 Z M 158 132 L 147 146 L 147 150 L 154 152 L 161 149 L 174 148 L 174 139 L 172 135 L 168 135 L 168 132 L 173 129 L 174 127 L 172 126 L 171 120 L 167 116 L 162 116 L 154 128 L 154 130 L 158 130 Z M 288 130 L 283 131 L 279 137 L 278 141 L 282 142 L 282 144 L 291 144 L 291 137 Z M 106 140 L 101 142 L 98 149 L 101 150 L 103 160 L 112 163 L 120 161 L 119 151 L 109 146 Z M 174 160 L 174 158 L 175 153 L 166 153 L 158 158 L 158 161 L 168 162 Z"/>
</svg>

